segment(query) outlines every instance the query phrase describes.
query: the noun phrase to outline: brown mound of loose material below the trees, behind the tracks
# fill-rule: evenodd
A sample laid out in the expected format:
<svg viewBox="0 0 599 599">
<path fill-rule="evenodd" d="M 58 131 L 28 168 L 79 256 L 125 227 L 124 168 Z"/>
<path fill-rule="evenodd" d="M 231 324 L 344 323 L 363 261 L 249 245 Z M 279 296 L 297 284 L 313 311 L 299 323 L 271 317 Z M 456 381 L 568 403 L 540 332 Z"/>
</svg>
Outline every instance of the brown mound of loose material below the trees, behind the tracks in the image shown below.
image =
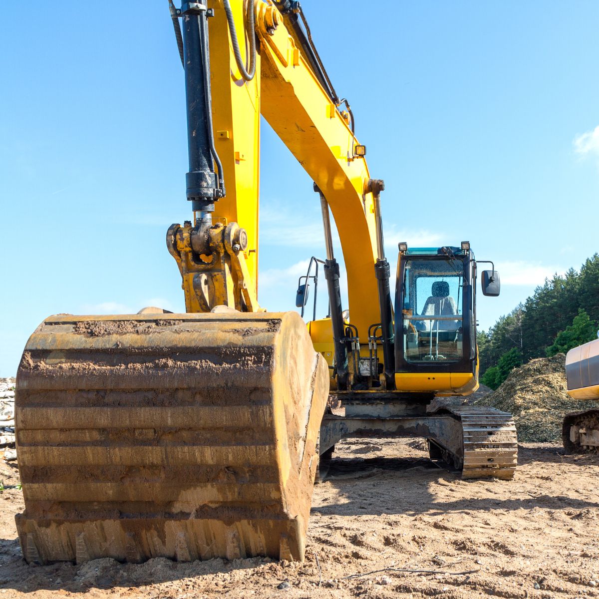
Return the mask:
<svg viewBox="0 0 599 599">
<path fill-rule="evenodd" d="M 514 415 L 518 440 L 561 441 L 564 415 L 599 407 L 596 401 L 573 400 L 566 391 L 565 355 L 537 358 L 512 370 L 497 391 L 476 401 Z"/>
</svg>

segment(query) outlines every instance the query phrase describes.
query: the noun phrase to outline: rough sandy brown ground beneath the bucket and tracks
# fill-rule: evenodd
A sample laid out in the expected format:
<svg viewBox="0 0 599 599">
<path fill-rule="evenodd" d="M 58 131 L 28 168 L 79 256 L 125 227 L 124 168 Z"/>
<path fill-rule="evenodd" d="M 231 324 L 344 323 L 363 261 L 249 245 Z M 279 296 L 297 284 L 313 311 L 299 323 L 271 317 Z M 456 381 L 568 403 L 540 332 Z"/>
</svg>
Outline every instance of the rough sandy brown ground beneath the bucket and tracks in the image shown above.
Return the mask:
<svg viewBox="0 0 599 599">
<path fill-rule="evenodd" d="M 14 527 L 22 495 L 7 489 L 0 599 L 597 597 L 599 459 L 559 452 L 524 444 L 514 480 L 462 481 L 431 464 L 420 441 L 345 441 L 314 490 L 303 564 L 28 566 Z M 0 480 L 16 485 L 16 468 L 0 461 Z"/>
</svg>

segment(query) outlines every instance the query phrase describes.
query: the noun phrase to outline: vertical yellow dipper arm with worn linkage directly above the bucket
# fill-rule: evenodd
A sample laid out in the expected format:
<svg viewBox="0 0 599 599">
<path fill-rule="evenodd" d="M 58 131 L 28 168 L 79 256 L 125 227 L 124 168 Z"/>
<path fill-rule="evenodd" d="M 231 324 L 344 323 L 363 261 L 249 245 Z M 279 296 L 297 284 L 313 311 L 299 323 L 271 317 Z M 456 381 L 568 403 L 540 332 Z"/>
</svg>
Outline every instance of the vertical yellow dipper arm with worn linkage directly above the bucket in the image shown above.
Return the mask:
<svg viewBox="0 0 599 599">
<path fill-rule="evenodd" d="M 167 245 L 181 272 L 187 312 L 209 312 L 220 304 L 255 312 L 262 309 L 257 299 L 260 56 L 253 79 L 245 81 L 235 63 L 222 0 L 211 0 L 209 8 L 214 11 L 208 20 L 213 129 L 226 196 L 215 202 L 210 252 L 194 249 L 191 223 L 171 227 Z M 231 2 L 231 8 L 241 52 L 249 54 L 244 3 Z M 231 252 L 226 232 L 240 226 L 247 242 Z"/>
</svg>

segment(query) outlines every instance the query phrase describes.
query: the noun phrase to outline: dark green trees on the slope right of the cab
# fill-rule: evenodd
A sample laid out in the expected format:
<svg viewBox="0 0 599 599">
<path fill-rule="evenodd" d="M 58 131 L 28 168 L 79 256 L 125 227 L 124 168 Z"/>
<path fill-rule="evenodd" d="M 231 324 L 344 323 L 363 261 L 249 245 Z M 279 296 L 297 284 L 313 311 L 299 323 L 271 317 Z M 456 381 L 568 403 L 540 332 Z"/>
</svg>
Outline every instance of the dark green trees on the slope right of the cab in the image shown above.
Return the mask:
<svg viewBox="0 0 599 599">
<path fill-rule="evenodd" d="M 580 271 L 555 274 L 524 303 L 478 332 L 481 382 L 497 389 L 512 368 L 553 356 L 597 337 L 599 254 Z"/>
</svg>

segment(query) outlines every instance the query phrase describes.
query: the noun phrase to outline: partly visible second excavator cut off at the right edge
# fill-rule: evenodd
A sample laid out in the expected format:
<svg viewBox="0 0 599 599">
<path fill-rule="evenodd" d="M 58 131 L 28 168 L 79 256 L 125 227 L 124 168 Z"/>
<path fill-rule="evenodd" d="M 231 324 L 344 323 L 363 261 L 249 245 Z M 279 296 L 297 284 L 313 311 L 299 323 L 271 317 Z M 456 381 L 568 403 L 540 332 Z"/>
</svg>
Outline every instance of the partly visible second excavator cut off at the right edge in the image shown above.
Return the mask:
<svg viewBox="0 0 599 599">
<path fill-rule="evenodd" d="M 597 333 L 599 337 L 599 332 Z M 599 401 L 599 339 L 571 349 L 565 356 L 568 395 L 575 400 Z M 568 452 L 599 449 L 599 410 L 566 414 L 562 442 Z"/>
</svg>

